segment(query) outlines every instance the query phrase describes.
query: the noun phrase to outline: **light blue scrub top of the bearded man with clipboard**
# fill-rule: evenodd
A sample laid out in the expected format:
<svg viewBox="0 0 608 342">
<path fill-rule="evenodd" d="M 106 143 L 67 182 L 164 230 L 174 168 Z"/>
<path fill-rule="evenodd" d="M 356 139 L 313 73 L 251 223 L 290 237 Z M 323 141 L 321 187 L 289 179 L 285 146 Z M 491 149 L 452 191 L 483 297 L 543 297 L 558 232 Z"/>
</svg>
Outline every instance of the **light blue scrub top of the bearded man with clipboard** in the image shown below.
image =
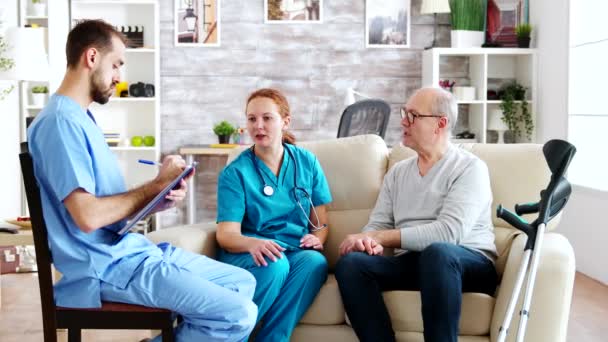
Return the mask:
<svg viewBox="0 0 608 342">
<path fill-rule="evenodd" d="M 147 256 L 162 251 L 141 234 L 117 239 L 122 220 L 84 233 L 63 204 L 78 188 L 97 197 L 126 191 L 116 156 L 90 112 L 55 94 L 27 133 L 51 255 L 63 275 L 55 285 L 55 302 L 100 307 L 100 281 L 124 288 Z"/>
</svg>

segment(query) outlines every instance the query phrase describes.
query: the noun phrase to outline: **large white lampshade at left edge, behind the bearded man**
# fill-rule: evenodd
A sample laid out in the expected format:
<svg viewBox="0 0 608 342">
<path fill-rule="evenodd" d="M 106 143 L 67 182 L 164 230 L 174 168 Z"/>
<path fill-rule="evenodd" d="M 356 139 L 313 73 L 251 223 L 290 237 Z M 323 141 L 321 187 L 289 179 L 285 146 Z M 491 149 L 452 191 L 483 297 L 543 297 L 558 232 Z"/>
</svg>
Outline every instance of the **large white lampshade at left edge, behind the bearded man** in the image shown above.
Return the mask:
<svg viewBox="0 0 608 342">
<path fill-rule="evenodd" d="M 0 80 L 48 81 L 45 35 L 44 28 L 8 28 L 4 36 L 8 44 L 4 57 L 12 59 L 15 65 L 0 72 Z"/>
</svg>

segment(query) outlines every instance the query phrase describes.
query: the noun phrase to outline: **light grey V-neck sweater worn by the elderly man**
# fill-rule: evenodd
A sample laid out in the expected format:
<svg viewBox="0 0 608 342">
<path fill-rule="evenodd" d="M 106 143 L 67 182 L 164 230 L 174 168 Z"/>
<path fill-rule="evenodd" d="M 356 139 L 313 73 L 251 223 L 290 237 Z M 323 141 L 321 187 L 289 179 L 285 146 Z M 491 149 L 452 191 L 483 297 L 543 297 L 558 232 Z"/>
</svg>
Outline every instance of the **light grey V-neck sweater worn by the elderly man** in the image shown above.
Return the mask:
<svg viewBox="0 0 608 342">
<path fill-rule="evenodd" d="M 421 251 L 448 242 L 496 258 L 486 164 L 452 144 L 424 177 L 418 158 L 394 165 L 384 177 L 376 206 L 363 231 L 401 230 L 401 248 Z"/>
</svg>

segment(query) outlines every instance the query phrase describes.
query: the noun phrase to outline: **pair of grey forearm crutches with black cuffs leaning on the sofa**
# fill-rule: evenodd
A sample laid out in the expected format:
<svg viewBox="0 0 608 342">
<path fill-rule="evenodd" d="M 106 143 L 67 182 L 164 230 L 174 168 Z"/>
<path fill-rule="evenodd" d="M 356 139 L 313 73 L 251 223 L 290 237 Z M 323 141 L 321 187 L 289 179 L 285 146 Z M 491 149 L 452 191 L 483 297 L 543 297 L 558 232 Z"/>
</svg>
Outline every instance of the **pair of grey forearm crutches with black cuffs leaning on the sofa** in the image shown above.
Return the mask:
<svg viewBox="0 0 608 342">
<path fill-rule="evenodd" d="M 567 141 L 550 140 L 543 146 L 543 154 L 551 170 L 551 181 L 545 190 L 540 192 L 540 201 L 536 203 L 516 204 L 515 213 L 503 208 L 501 205 L 496 209 L 496 216 L 505 220 L 513 227 L 521 230 L 528 236 L 524 247 L 524 254 L 517 272 L 515 288 L 507 305 L 506 316 L 500 330 L 498 331 L 498 342 L 504 342 L 507 338 L 511 318 L 515 305 L 519 298 L 521 288 L 528 275 L 528 282 L 524 292 L 522 309 L 519 312 L 519 328 L 517 329 L 517 342 L 524 340 L 526 325 L 530 316 L 530 303 L 534 290 L 534 281 L 538 270 L 543 235 L 547 223 L 555 217 L 566 205 L 572 189 L 570 183 L 564 178 L 568 165 L 576 153 L 576 148 Z M 538 218 L 528 223 L 520 215 L 539 213 Z M 530 260 L 532 263 L 530 264 Z"/>
</svg>

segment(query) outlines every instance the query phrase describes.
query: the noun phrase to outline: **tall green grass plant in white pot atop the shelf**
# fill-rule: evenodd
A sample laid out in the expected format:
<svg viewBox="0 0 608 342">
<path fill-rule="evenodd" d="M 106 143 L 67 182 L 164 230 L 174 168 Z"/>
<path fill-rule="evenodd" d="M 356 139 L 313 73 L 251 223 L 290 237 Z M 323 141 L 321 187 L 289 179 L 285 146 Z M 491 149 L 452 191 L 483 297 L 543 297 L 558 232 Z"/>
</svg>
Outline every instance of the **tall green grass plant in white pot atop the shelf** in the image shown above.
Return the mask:
<svg viewBox="0 0 608 342">
<path fill-rule="evenodd" d="M 485 40 L 486 0 L 449 0 L 452 47 L 480 47 Z"/>
</svg>

